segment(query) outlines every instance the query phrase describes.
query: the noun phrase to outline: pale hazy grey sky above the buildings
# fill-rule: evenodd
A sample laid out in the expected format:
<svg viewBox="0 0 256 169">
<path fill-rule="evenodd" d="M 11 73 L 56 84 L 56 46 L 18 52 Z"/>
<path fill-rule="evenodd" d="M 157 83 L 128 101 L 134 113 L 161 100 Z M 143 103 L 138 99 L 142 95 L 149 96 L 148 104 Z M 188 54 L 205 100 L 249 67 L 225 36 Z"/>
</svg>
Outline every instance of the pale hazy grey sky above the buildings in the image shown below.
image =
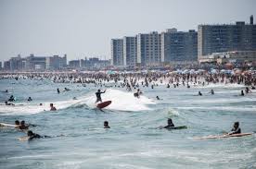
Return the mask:
<svg viewBox="0 0 256 169">
<path fill-rule="evenodd" d="M 110 58 L 110 39 L 198 24 L 256 22 L 256 0 L 0 0 L 0 61 L 68 54 Z"/>
</svg>

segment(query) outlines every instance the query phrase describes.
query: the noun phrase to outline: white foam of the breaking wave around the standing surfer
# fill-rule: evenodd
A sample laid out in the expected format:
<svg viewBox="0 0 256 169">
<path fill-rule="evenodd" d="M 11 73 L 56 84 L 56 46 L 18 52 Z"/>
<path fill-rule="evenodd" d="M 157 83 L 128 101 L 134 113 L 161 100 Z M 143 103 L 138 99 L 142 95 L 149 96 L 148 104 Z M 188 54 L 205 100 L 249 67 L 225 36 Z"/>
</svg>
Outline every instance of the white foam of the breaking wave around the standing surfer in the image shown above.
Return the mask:
<svg viewBox="0 0 256 169">
<path fill-rule="evenodd" d="M 150 110 L 147 104 L 154 103 L 152 100 L 145 96 L 141 96 L 139 99 L 134 97 L 134 93 L 118 91 L 118 90 L 108 90 L 106 93 L 102 94 L 103 101 L 112 101 L 112 103 L 106 107 L 110 110 L 119 111 L 144 111 Z M 86 104 L 90 108 L 96 108 L 96 95 L 95 92 L 78 98 L 77 100 L 67 100 L 52 102 L 54 106 L 58 109 L 65 109 L 73 105 L 83 105 Z M 50 110 L 50 103 L 19 103 L 15 106 L 11 105 L 1 105 L 0 115 L 33 115 L 42 113 Z"/>
</svg>

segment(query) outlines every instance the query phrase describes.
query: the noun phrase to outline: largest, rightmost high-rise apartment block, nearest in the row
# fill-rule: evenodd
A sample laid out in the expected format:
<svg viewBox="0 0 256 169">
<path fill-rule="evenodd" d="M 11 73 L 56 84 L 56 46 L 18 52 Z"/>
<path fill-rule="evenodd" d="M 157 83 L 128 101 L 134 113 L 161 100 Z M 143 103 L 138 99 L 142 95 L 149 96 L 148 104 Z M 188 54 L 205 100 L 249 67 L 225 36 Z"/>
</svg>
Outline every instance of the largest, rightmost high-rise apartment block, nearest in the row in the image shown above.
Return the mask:
<svg viewBox="0 0 256 169">
<path fill-rule="evenodd" d="M 212 53 L 228 51 L 255 51 L 256 25 L 236 22 L 231 25 L 198 26 L 198 59 Z"/>
</svg>

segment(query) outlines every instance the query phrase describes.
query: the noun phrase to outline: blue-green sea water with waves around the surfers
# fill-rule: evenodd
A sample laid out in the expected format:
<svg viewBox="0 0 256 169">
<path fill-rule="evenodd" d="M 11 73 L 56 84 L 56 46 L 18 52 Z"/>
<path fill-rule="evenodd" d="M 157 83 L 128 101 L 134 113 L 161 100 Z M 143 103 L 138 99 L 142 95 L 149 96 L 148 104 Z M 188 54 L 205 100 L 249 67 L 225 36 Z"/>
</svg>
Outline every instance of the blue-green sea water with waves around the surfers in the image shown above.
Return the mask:
<svg viewBox="0 0 256 169">
<path fill-rule="evenodd" d="M 58 94 L 58 88 L 71 91 Z M 53 137 L 19 141 L 25 133 L 1 127 L 3 169 L 256 167 L 255 135 L 193 139 L 221 135 L 236 121 L 242 132 L 256 131 L 256 91 L 239 96 L 245 89 L 242 85 L 142 87 L 139 99 L 125 89 L 109 88 L 102 99 L 112 103 L 104 112 L 96 109 L 98 87 L 93 84 L 83 87 L 47 79 L 0 79 L 0 89 L 9 91 L 0 92 L 1 103 L 10 95 L 17 99 L 15 106 L 0 105 L 0 122 L 25 120 L 37 125 L 31 127 L 33 132 Z M 203 95 L 197 96 L 198 91 Z M 162 100 L 156 100 L 157 95 Z M 27 102 L 29 96 L 32 102 Z M 49 103 L 58 111 L 49 111 Z M 158 129 L 168 118 L 187 129 Z M 103 129 L 106 120 L 110 129 Z"/>
</svg>

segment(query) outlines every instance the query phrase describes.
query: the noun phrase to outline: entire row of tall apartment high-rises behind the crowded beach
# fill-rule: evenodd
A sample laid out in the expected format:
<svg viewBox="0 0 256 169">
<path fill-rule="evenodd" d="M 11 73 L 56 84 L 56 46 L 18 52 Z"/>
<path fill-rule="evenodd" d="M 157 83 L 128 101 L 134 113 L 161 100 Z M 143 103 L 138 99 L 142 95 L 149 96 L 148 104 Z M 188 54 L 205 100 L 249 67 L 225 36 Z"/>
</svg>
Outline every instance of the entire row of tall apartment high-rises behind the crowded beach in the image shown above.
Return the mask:
<svg viewBox="0 0 256 169">
<path fill-rule="evenodd" d="M 198 25 L 198 31 L 169 29 L 111 40 L 113 66 L 160 66 L 193 63 L 214 53 L 256 51 L 256 25 Z M 240 52 L 239 54 L 245 54 Z M 243 56 L 241 56 L 243 57 Z M 256 58 L 255 58 L 256 61 Z"/>
</svg>

